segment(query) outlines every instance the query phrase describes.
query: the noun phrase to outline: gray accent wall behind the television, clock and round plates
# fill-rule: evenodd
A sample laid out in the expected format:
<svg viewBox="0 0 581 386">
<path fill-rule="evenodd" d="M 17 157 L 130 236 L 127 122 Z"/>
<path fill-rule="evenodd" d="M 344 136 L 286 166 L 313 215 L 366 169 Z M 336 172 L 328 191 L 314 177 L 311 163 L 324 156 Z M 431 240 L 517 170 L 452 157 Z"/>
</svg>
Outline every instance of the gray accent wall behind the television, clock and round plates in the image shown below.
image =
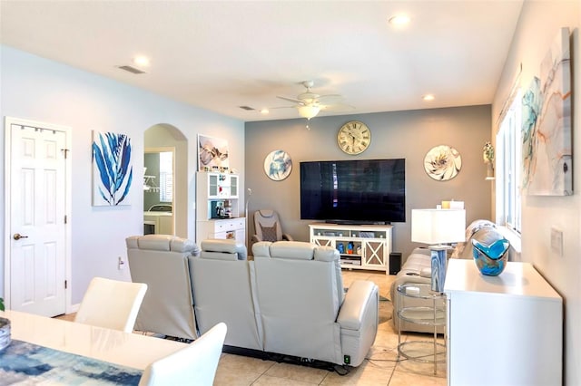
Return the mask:
<svg viewBox="0 0 581 386">
<path fill-rule="evenodd" d="M 371 130 L 368 150 L 356 156 L 345 154 L 337 144 L 340 126 L 347 121 L 362 121 Z M 300 161 L 404 158 L 407 221 L 393 224 L 394 251 L 405 258 L 420 246 L 410 240 L 412 208 L 463 200 L 467 224 L 490 219 L 492 186 L 485 180 L 482 160 L 482 149 L 490 140 L 490 105 L 317 117 L 310 121 L 310 130 L 306 123 L 304 119 L 246 122 L 245 186 L 252 191 L 249 217 L 261 208 L 275 209 L 286 233 L 308 241 L 312 221 L 300 219 Z M 438 145 L 453 147 L 462 157 L 458 176 L 445 182 L 428 177 L 423 167 L 428 150 Z M 264 159 L 272 150 L 291 155 L 292 171 L 287 179 L 273 181 L 264 172 Z M 253 234 L 253 221 L 249 221 L 248 236 Z"/>
</svg>

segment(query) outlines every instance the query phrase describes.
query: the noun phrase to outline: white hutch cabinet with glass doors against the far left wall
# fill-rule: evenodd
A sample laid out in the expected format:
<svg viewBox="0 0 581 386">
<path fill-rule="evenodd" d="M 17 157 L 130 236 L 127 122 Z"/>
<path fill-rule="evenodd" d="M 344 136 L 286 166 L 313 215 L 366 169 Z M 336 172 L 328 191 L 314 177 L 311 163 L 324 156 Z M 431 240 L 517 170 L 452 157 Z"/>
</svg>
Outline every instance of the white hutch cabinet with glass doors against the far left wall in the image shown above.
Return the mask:
<svg viewBox="0 0 581 386">
<path fill-rule="evenodd" d="M 196 177 L 196 243 L 206 238 L 246 240 L 246 218 L 238 217 L 239 176 L 198 171 Z"/>
</svg>

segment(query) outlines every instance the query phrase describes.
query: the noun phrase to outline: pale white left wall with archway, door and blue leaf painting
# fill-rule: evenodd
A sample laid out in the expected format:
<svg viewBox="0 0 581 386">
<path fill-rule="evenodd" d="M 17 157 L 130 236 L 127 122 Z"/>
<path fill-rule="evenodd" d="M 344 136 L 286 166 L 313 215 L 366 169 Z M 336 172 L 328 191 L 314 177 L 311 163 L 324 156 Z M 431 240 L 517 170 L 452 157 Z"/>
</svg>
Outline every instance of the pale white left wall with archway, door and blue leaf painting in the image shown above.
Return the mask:
<svg viewBox="0 0 581 386">
<path fill-rule="evenodd" d="M 0 45 L 0 116 L 43 121 L 72 128 L 73 202 L 72 303 L 81 301 L 94 275 L 129 278 L 117 270 L 117 257 L 125 256 L 125 237 L 143 234 L 143 186 L 133 183 L 133 204 L 128 207 L 92 207 L 92 130 L 126 133 L 133 144 L 133 168 L 143 170 L 143 132 L 156 124 L 178 128 L 188 140 L 188 237 L 194 238 L 195 170 L 197 134 L 229 141 L 231 168 L 244 170 L 244 124 L 222 115 L 193 108 L 151 92 L 54 63 Z M 134 76 L 128 74 L 127 76 Z M 3 121 L 4 123 L 4 121 Z M 5 138 L 0 136 L 0 158 Z M 4 168 L 0 179 L 4 180 Z M 4 191 L 0 213 L 5 214 Z M 4 227 L 4 224 L 0 227 Z M 7 230 L 3 229 L 2 234 Z M 0 239 L 4 250 L 6 237 Z M 0 291 L 4 294 L 4 259 L 0 259 Z"/>
</svg>

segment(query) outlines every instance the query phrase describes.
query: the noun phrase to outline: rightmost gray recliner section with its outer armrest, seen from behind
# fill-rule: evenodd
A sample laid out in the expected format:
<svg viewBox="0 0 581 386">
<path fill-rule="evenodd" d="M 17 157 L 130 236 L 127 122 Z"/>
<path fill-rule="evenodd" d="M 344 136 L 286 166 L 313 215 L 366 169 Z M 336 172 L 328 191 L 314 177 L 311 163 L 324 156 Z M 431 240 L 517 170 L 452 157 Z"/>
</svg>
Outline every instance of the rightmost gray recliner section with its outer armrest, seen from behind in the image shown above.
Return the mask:
<svg viewBox="0 0 581 386">
<path fill-rule="evenodd" d="M 252 246 L 265 352 L 359 366 L 375 341 L 378 286 L 343 291 L 339 252 L 299 241 Z"/>
</svg>

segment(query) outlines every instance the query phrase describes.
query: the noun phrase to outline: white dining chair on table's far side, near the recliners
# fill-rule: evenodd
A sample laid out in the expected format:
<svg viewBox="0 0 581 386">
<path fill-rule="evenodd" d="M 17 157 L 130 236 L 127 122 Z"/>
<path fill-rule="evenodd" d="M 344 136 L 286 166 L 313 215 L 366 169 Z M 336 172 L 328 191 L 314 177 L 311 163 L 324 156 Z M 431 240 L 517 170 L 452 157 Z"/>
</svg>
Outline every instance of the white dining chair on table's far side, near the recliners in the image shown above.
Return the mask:
<svg viewBox="0 0 581 386">
<path fill-rule="evenodd" d="M 94 277 L 74 322 L 133 332 L 147 285 Z"/>
</svg>

